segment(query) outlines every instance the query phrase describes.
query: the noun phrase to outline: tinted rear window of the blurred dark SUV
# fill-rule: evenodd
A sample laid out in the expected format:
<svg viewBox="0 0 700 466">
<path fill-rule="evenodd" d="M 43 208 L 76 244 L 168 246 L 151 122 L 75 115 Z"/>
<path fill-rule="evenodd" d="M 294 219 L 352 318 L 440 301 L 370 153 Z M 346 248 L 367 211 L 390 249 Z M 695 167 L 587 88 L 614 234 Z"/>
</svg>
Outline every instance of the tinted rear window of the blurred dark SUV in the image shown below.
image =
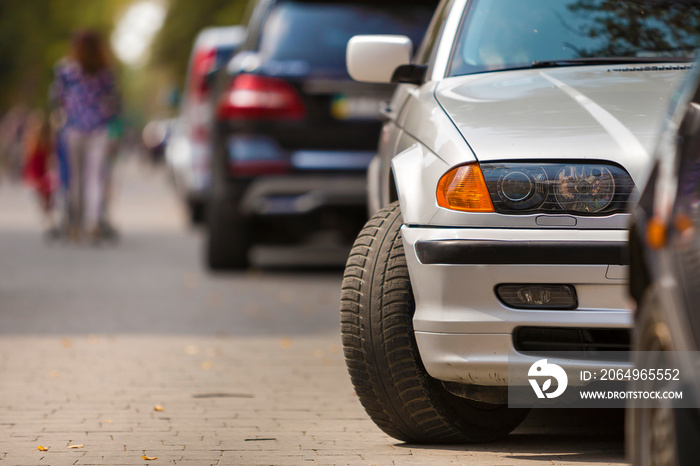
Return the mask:
<svg viewBox="0 0 700 466">
<path fill-rule="evenodd" d="M 263 26 L 265 60 L 304 61 L 312 69 L 345 71 L 345 47 L 358 34 L 402 34 L 420 43 L 437 2 L 286 1 Z"/>
</svg>

